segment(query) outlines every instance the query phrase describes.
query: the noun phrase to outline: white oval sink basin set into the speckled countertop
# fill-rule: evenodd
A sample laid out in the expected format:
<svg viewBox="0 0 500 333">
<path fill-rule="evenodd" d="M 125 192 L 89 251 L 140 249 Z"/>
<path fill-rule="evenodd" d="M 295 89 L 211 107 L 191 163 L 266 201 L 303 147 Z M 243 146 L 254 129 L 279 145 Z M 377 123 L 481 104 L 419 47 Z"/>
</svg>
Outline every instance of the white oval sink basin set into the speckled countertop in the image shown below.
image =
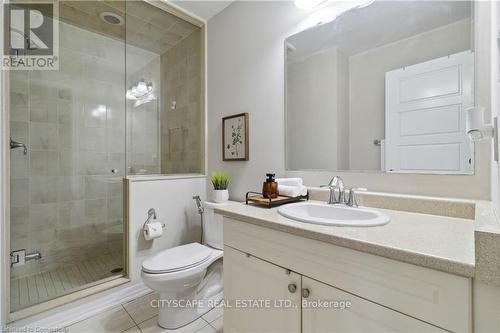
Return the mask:
<svg viewBox="0 0 500 333">
<path fill-rule="evenodd" d="M 328 205 L 317 202 L 300 202 L 278 208 L 278 213 L 289 219 L 332 226 L 372 227 L 384 225 L 389 216 L 373 209 Z"/>
</svg>

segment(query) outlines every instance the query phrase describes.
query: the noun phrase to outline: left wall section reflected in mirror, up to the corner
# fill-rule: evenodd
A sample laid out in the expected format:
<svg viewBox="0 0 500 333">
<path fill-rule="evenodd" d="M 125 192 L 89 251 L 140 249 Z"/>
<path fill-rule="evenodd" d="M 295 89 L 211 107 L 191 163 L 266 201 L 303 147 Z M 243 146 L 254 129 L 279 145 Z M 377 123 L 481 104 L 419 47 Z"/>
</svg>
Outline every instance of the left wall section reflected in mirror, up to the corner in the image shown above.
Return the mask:
<svg viewBox="0 0 500 333">
<path fill-rule="evenodd" d="M 331 48 L 287 64 L 286 154 L 290 169 L 338 169 L 340 145 L 331 140 L 342 125 L 337 108 L 337 53 Z M 328 131 L 317 131 L 318 123 Z"/>
</svg>

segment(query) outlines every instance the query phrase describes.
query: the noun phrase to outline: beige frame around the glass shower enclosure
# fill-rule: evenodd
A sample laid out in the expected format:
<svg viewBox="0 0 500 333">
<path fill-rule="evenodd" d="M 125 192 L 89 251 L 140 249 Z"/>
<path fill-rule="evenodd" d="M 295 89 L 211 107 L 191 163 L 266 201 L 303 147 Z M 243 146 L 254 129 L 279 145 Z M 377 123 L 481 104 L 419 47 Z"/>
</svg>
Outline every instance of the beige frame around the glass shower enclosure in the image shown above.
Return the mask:
<svg viewBox="0 0 500 333">
<path fill-rule="evenodd" d="M 150 5 L 157 7 L 160 10 L 166 11 L 184 21 L 187 21 L 193 25 L 196 25 L 201 29 L 202 35 L 202 92 L 203 99 L 200 108 L 203 112 L 203 139 L 204 139 L 204 156 L 202 159 L 202 173 L 205 172 L 207 168 L 207 48 L 206 48 L 206 21 L 196 17 L 195 15 L 188 13 L 182 8 L 168 3 L 166 0 L 142 0 Z M 3 17 L 3 5 L 8 1 L 0 1 L 0 17 Z M 3 36 L 3 25 L 0 24 L 0 36 Z M 0 43 L 0 54 L 3 54 L 3 42 Z M 15 312 L 10 311 L 10 149 L 7 145 L 9 143 L 10 137 L 10 122 L 9 122 L 9 71 L 3 70 L 3 62 L 0 62 L 0 328 L 4 327 L 7 323 L 24 319 L 41 312 L 62 306 L 64 304 L 82 299 L 83 297 L 97 294 L 99 292 L 112 289 L 114 287 L 131 282 L 130 279 L 130 232 L 128 230 L 128 203 L 127 203 L 127 182 L 126 175 L 123 179 L 123 223 L 124 223 L 124 275 L 122 277 L 117 277 L 110 281 L 103 281 L 97 285 L 74 291 L 70 294 L 56 297 L 54 299 L 45 301 L 40 304 L 32 305 L 25 309 L 21 309 Z M 125 99 L 125 96 L 124 96 Z M 4 296 L 5 295 L 5 296 Z"/>
</svg>

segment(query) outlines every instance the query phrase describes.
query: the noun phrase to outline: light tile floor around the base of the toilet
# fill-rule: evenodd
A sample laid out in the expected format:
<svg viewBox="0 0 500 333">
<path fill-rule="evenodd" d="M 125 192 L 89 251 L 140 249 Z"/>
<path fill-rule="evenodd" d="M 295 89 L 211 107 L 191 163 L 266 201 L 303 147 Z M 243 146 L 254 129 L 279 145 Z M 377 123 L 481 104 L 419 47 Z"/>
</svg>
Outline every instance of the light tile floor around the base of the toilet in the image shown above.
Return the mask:
<svg viewBox="0 0 500 333">
<path fill-rule="evenodd" d="M 133 301 L 123 303 L 103 313 L 97 314 L 68 326 L 69 333 L 222 333 L 222 308 L 213 309 L 202 318 L 177 330 L 166 330 L 158 326 L 158 309 L 151 307 L 151 300 L 157 294 L 151 293 Z"/>
</svg>

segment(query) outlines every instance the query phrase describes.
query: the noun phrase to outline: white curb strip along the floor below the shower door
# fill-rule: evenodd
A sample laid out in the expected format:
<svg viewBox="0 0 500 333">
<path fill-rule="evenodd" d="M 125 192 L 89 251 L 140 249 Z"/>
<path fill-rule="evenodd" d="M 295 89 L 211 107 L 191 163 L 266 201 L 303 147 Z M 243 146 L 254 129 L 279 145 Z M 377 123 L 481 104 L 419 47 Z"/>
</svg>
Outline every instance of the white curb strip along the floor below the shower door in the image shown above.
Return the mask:
<svg viewBox="0 0 500 333">
<path fill-rule="evenodd" d="M 30 327 L 37 329 L 67 327 L 112 307 L 144 296 L 151 291 L 142 282 L 129 282 L 38 315 L 12 322 L 8 327 Z"/>
</svg>

